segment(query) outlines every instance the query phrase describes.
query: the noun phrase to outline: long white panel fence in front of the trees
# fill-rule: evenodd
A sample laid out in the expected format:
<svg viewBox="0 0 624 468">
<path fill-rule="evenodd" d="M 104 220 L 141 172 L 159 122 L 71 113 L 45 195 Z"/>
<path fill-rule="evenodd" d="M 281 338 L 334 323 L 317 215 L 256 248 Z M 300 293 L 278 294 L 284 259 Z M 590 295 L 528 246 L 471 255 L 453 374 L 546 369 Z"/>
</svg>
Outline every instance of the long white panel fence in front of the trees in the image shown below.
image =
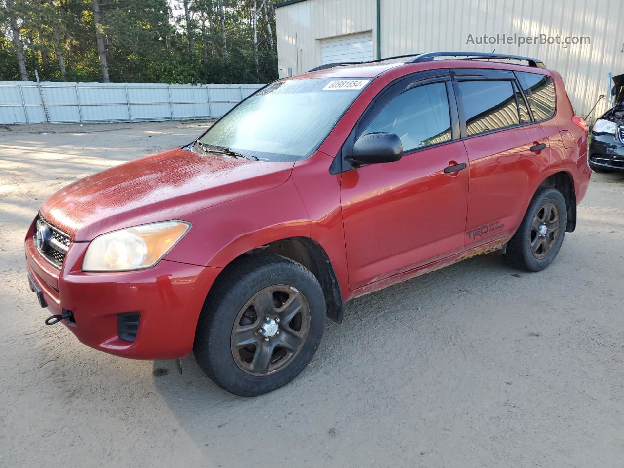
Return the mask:
<svg viewBox="0 0 624 468">
<path fill-rule="evenodd" d="M 0 82 L 0 124 L 221 117 L 262 84 Z"/>
</svg>

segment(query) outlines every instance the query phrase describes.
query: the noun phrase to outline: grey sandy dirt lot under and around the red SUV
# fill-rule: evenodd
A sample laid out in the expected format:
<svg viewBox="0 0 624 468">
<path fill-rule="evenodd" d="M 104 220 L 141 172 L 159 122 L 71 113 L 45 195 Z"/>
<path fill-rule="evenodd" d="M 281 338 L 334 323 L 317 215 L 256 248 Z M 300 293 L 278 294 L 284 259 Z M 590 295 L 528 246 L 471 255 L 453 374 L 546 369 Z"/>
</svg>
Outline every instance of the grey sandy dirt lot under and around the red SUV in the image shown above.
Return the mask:
<svg viewBox="0 0 624 468">
<path fill-rule="evenodd" d="M 624 175 L 593 175 L 546 271 L 490 254 L 354 300 L 255 399 L 45 326 L 22 253 L 42 200 L 203 127 L 0 127 L 0 466 L 622 467 Z"/>
</svg>

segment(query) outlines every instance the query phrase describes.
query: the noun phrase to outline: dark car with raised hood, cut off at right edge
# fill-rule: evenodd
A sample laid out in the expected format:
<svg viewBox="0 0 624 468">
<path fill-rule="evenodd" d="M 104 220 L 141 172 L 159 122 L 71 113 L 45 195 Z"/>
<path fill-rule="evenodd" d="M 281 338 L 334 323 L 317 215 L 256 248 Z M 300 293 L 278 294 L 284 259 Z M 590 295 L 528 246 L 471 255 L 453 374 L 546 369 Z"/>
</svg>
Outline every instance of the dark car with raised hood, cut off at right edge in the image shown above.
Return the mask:
<svg viewBox="0 0 624 468">
<path fill-rule="evenodd" d="M 615 106 L 592 129 L 589 165 L 595 172 L 624 171 L 624 74 L 612 80 Z"/>
</svg>

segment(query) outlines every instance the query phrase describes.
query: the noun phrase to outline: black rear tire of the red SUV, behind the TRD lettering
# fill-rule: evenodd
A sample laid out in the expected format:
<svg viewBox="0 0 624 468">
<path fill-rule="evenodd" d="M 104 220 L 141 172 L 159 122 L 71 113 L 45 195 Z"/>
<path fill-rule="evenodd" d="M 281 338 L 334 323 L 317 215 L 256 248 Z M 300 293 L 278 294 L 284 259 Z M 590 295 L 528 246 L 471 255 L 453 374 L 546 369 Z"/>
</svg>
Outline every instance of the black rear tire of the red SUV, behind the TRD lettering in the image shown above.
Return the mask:
<svg viewBox="0 0 624 468">
<path fill-rule="evenodd" d="M 540 216 L 544 217 L 545 211 L 542 210 L 545 207 L 551 208 L 551 213 L 556 212 L 555 215 L 558 217 L 558 230 L 556 234 L 551 232 L 550 227 L 547 226 L 545 235 L 539 235 L 539 232 L 542 230 L 539 226 L 547 224 L 539 222 L 541 219 Z M 556 210 L 552 209 L 552 207 L 555 207 Z M 551 222 L 552 220 L 548 223 Z M 529 204 L 529 208 L 527 208 L 527 213 L 524 215 L 520 227 L 507 243 L 507 250 L 504 254 L 507 265 L 525 271 L 544 270 L 544 268 L 555 260 L 561 248 L 567 223 L 567 206 L 561 192 L 556 188 L 539 188 L 537 192 L 535 192 L 533 200 L 531 200 Z M 539 224 L 537 228 L 536 224 Z M 540 241 L 542 242 L 542 251 L 540 251 L 539 246 L 537 246 L 538 250 L 534 252 L 535 246 Z"/>
</svg>

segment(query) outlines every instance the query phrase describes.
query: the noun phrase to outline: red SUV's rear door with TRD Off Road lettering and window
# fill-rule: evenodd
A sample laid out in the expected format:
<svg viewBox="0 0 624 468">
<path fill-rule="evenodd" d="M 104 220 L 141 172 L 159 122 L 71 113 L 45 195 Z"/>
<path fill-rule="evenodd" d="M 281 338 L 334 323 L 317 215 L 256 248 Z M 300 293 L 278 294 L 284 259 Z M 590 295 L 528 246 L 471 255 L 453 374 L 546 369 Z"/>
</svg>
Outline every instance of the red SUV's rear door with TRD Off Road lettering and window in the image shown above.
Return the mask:
<svg viewBox="0 0 624 468">
<path fill-rule="evenodd" d="M 529 113 L 514 72 L 452 71 L 470 165 L 466 247 L 511 235 L 550 163 L 547 134 Z"/>
</svg>

